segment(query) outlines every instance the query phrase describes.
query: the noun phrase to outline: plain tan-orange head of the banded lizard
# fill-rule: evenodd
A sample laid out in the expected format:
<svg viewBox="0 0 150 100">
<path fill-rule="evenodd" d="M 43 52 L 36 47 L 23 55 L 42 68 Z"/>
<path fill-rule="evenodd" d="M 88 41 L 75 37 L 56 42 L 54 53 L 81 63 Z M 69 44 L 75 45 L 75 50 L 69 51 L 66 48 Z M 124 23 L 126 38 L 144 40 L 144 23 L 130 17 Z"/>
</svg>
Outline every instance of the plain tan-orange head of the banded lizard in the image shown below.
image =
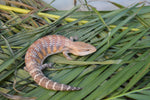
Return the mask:
<svg viewBox="0 0 150 100">
<path fill-rule="evenodd" d="M 91 44 L 87 44 L 84 42 L 72 42 L 70 46 L 69 52 L 77 55 L 77 56 L 84 56 L 91 54 L 96 51 L 96 48 Z"/>
</svg>

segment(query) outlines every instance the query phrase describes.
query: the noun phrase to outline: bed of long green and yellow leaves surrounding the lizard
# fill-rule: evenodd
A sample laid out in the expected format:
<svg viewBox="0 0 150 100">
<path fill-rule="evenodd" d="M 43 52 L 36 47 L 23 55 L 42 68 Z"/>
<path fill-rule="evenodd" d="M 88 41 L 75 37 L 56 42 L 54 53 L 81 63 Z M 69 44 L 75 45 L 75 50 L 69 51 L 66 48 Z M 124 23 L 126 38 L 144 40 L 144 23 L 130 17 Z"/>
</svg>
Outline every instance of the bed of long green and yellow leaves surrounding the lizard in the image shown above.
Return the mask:
<svg viewBox="0 0 150 100">
<path fill-rule="evenodd" d="M 120 9 L 99 12 L 87 5 L 91 11 L 79 12 L 79 6 L 58 11 L 41 0 L 0 3 L 0 100 L 149 100 L 150 6 L 111 2 Z M 75 61 L 62 54 L 46 61 L 57 68 L 44 70 L 47 77 L 83 90 L 44 89 L 23 70 L 27 48 L 52 34 L 77 36 L 97 48 L 85 57 L 72 55 Z"/>
</svg>

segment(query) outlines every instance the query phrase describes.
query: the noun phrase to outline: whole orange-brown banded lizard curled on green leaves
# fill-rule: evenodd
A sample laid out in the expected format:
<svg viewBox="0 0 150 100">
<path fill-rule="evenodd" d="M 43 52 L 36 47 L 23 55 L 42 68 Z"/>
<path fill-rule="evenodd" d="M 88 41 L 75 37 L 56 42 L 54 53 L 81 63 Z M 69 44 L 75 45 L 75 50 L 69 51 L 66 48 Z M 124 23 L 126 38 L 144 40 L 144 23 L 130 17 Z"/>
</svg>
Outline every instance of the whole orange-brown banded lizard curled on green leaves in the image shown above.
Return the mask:
<svg viewBox="0 0 150 100">
<path fill-rule="evenodd" d="M 68 53 L 77 56 L 85 56 L 96 51 L 96 48 L 84 42 L 73 42 L 60 35 L 49 35 L 35 41 L 27 50 L 25 55 L 24 68 L 32 76 L 34 81 L 46 89 L 56 91 L 75 91 L 81 90 L 65 84 L 53 82 L 42 73 L 42 69 L 50 67 L 51 64 L 43 64 L 44 59 L 56 53 L 63 53 L 66 59 L 71 60 Z"/>
</svg>

